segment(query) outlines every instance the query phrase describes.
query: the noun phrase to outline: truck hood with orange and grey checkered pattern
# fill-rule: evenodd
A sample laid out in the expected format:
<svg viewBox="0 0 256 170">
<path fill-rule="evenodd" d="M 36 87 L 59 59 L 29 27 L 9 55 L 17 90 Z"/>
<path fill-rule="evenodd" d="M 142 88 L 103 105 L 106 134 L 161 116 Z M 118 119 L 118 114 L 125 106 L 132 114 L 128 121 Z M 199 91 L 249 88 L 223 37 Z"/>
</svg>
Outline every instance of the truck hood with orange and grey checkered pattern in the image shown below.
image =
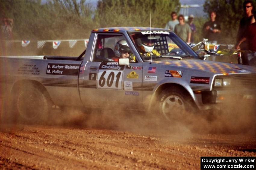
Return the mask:
<svg viewBox="0 0 256 170">
<path fill-rule="evenodd" d="M 152 61 L 152 63 L 183 67 L 187 69 L 196 69 L 225 75 L 234 73 L 256 73 L 256 67 L 207 60 L 164 60 Z"/>
</svg>

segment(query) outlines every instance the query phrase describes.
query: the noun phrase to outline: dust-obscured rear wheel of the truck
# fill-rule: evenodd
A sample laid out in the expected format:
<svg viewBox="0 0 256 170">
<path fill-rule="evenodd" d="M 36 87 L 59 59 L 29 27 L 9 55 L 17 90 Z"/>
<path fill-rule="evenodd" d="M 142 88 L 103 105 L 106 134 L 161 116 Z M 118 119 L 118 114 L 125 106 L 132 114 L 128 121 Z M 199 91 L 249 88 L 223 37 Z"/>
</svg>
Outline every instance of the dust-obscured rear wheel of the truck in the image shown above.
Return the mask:
<svg viewBox="0 0 256 170">
<path fill-rule="evenodd" d="M 14 106 L 19 121 L 26 123 L 45 122 L 51 104 L 46 95 L 34 85 L 26 85 L 15 90 Z"/>
</svg>

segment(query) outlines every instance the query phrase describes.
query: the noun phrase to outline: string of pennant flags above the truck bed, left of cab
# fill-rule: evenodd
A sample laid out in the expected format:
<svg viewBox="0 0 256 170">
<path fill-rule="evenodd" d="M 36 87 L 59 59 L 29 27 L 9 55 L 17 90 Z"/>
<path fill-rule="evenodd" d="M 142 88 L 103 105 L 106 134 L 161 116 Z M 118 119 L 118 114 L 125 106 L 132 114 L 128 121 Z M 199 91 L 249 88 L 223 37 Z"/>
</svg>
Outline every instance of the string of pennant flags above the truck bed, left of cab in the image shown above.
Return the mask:
<svg viewBox="0 0 256 170">
<path fill-rule="evenodd" d="M 52 48 L 57 49 L 58 46 L 61 44 L 63 41 L 68 41 L 69 48 L 73 48 L 77 41 L 84 41 L 84 46 L 87 47 L 89 39 L 82 39 L 82 40 L 41 40 L 37 41 L 37 48 L 42 49 L 45 46 L 46 42 L 52 42 Z M 5 41 L 5 46 L 11 46 L 14 42 L 20 42 L 19 40 L 13 40 L 13 41 Z M 35 42 L 35 41 L 32 41 Z M 22 47 L 27 47 L 30 44 L 30 40 L 21 40 L 21 46 Z"/>
</svg>

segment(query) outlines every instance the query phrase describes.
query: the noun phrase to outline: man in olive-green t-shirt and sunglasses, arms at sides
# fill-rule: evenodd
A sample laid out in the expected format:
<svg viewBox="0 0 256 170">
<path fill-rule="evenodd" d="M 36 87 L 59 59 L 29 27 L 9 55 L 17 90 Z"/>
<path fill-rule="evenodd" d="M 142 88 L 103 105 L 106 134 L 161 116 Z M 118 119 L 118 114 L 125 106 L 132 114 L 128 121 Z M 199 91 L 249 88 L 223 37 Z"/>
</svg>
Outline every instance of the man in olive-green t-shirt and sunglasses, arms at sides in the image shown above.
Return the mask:
<svg viewBox="0 0 256 170">
<path fill-rule="evenodd" d="M 187 43 L 190 43 L 191 29 L 189 24 L 185 23 L 184 16 L 179 15 L 179 24 L 175 25 L 174 32 Z"/>
</svg>

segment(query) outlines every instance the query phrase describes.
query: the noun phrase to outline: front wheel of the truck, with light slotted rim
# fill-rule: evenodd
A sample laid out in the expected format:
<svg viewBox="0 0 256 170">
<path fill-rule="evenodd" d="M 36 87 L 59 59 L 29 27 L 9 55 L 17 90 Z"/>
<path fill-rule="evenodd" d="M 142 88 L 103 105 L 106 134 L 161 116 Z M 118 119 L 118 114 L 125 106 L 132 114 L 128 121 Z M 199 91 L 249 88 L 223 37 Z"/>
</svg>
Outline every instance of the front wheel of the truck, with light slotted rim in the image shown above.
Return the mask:
<svg viewBox="0 0 256 170">
<path fill-rule="evenodd" d="M 167 88 L 159 95 L 159 112 L 166 121 L 183 119 L 189 110 L 193 110 L 191 104 L 192 98 L 180 88 Z"/>
</svg>

